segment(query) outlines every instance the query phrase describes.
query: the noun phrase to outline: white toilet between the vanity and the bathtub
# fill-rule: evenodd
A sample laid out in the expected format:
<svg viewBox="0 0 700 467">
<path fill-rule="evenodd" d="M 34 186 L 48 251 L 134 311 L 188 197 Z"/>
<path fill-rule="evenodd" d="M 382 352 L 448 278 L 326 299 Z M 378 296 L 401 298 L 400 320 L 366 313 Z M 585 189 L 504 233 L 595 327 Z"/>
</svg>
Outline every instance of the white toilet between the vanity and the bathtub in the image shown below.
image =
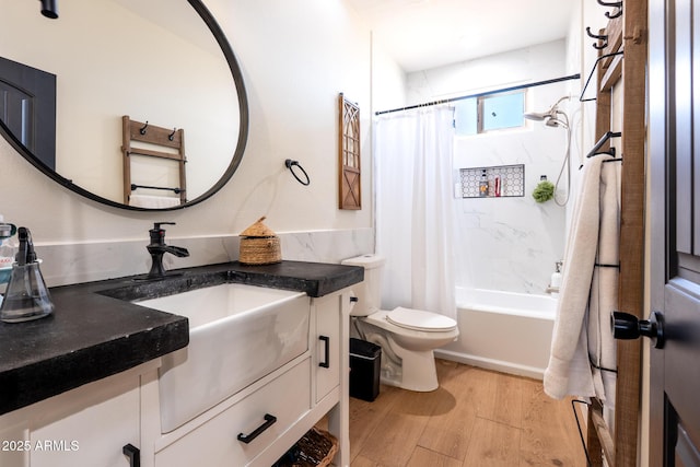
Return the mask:
<svg viewBox="0 0 700 467">
<path fill-rule="evenodd" d="M 380 310 L 382 270 L 386 259 L 363 255 L 342 261 L 364 268 L 364 281 L 353 287 L 352 332 L 382 348 L 381 381 L 409 390 L 438 389 L 433 350 L 459 336 L 457 323 L 443 315 L 398 306 Z"/>
</svg>

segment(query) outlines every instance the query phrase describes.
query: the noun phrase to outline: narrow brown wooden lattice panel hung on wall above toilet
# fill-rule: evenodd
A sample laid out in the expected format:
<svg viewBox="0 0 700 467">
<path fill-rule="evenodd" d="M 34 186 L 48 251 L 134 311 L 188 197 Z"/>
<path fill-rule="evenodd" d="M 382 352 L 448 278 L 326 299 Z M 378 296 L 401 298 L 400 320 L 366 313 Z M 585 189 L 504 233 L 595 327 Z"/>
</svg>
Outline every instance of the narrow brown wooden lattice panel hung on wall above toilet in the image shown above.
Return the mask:
<svg viewBox="0 0 700 467">
<path fill-rule="evenodd" d="M 360 171 L 360 107 L 338 96 L 339 103 L 339 205 L 340 209 L 362 209 Z"/>
</svg>

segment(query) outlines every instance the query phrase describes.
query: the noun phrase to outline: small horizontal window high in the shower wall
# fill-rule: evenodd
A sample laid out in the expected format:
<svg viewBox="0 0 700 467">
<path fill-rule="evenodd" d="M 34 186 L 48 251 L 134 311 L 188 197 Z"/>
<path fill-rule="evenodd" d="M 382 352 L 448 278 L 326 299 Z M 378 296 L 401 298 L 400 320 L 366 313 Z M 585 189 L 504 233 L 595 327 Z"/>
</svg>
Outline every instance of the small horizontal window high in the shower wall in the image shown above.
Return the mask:
<svg viewBox="0 0 700 467">
<path fill-rule="evenodd" d="M 469 97 L 455 103 L 455 133 L 471 136 L 525 125 L 525 90 Z"/>
</svg>

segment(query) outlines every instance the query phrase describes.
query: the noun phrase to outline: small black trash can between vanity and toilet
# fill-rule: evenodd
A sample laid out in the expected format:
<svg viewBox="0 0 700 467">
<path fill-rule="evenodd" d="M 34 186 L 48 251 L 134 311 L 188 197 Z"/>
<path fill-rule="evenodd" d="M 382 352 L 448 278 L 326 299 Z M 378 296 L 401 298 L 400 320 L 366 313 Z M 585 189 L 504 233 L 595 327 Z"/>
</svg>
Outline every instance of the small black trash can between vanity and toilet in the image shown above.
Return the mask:
<svg viewBox="0 0 700 467">
<path fill-rule="evenodd" d="M 373 401 L 380 395 L 382 348 L 350 338 L 350 397 Z"/>
</svg>

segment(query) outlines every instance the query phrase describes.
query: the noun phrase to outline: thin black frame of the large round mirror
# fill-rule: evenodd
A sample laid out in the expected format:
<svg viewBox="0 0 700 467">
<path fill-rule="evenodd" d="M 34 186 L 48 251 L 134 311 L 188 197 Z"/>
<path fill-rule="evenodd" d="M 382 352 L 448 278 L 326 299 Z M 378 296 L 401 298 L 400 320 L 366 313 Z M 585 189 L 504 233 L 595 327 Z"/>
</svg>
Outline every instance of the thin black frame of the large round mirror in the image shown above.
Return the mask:
<svg viewBox="0 0 700 467">
<path fill-rule="evenodd" d="M 129 211 L 175 211 L 178 209 L 189 208 L 191 206 L 202 202 L 206 199 L 211 198 L 231 179 L 233 174 L 236 172 L 236 168 L 238 168 L 238 165 L 241 164 L 241 160 L 243 159 L 243 153 L 245 151 L 245 147 L 248 139 L 248 126 L 249 126 L 248 98 L 245 92 L 245 84 L 243 82 L 243 73 L 241 72 L 241 68 L 238 67 L 238 62 L 236 60 L 235 55 L 233 54 L 231 44 L 229 44 L 229 40 L 226 39 L 226 36 L 224 35 L 223 31 L 221 30 L 221 27 L 212 16 L 211 12 L 207 9 L 207 7 L 205 7 L 205 4 L 200 0 L 187 0 L 187 2 L 195 9 L 195 11 L 202 19 L 202 21 L 207 24 L 207 27 L 209 27 L 209 31 L 211 31 L 211 34 L 217 39 L 219 47 L 221 47 L 221 51 L 223 52 L 226 59 L 226 62 L 229 63 L 229 69 L 231 70 L 231 74 L 233 77 L 233 81 L 236 86 L 236 93 L 238 96 L 240 129 L 238 129 L 238 141 L 236 143 L 236 149 L 233 154 L 231 164 L 229 164 L 229 167 L 226 168 L 224 174 L 209 190 L 205 191 L 202 195 L 198 196 L 197 198 L 190 201 L 187 201 L 184 205 L 174 206 L 171 208 L 153 209 L 153 208 L 139 208 L 139 207 L 124 205 L 121 202 L 116 202 L 110 199 L 103 198 L 98 195 L 93 194 L 92 191 L 88 191 L 86 189 L 73 184 L 71 179 L 68 179 L 59 175 L 55 171 L 52 171 L 50 167 L 48 167 L 46 164 L 44 164 L 42 161 L 35 157 L 34 154 L 32 154 L 32 152 L 24 144 L 22 144 L 22 142 L 20 142 L 20 140 L 12 133 L 12 131 L 10 131 L 10 129 L 4 125 L 2 120 L 0 120 L 0 133 L 2 133 L 4 139 L 8 140 L 8 142 L 24 159 L 26 159 L 32 165 L 34 165 L 36 168 L 43 172 L 46 176 L 48 176 L 49 178 L 52 178 L 59 185 L 62 185 L 63 187 L 70 189 L 71 191 L 77 192 L 78 195 L 81 195 L 85 198 L 89 198 L 102 205 L 110 206 L 113 208 L 125 209 Z"/>
</svg>

